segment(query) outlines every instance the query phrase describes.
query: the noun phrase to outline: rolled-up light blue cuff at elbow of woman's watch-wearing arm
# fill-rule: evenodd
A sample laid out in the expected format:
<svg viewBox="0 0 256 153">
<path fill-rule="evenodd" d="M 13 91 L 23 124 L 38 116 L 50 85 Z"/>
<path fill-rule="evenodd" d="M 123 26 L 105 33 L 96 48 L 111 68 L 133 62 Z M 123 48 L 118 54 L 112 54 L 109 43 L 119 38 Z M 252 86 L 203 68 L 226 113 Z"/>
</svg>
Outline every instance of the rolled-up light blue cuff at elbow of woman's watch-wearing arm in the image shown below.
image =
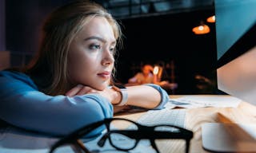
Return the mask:
<svg viewBox="0 0 256 153">
<path fill-rule="evenodd" d="M 145 85 L 149 85 L 150 87 L 153 87 L 155 89 L 158 90 L 158 92 L 160 92 L 161 94 L 161 102 L 158 105 L 158 107 L 154 108 L 154 109 L 162 109 L 164 108 L 165 104 L 168 102 L 169 100 L 169 95 L 166 92 L 166 90 L 164 90 L 161 86 L 159 86 L 158 84 L 145 84 Z"/>
</svg>

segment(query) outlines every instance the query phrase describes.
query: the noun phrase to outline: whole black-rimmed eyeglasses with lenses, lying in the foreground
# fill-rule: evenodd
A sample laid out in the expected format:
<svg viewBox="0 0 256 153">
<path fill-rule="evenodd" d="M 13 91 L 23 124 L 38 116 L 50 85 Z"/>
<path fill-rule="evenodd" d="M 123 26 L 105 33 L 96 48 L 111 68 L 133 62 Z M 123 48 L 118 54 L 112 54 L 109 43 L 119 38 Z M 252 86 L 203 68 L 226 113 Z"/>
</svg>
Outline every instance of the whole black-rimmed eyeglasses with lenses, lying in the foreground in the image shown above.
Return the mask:
<svg viewBox="0 0 256 153">
<path fill-rule="evenodd" d="M 119 125 L 121 125 L 122 128 L 119 128 Z M 58 142 L 54 143 L 50 148 L 49 153 L 59 152 L 57 150 L 62 149 L 64 146 L 72 147 L 74 152 L 90 153 L 81 139 L 91 131 L 101 128 L 102 126 L 106 126 L 106 133 L 98 140 L 98 146 L 103 147 L 106 143 L 106 139 L 108 139 L 110 145 L 118 151 L 133 150 L 137 147 L 141 139 L 148 139 L 154 150 L 159 153 L 158 147 L 163 142 L 162 140 L 181 139 L 184 143 L 184 150 L 187 153 L 190 148 L 190 139 L 193 138 L 192 131 L 174 125 L 160 124 L 146 126 L 132 120 L 107 118 L 80 128 L 58 140 Z"/>
</svg>

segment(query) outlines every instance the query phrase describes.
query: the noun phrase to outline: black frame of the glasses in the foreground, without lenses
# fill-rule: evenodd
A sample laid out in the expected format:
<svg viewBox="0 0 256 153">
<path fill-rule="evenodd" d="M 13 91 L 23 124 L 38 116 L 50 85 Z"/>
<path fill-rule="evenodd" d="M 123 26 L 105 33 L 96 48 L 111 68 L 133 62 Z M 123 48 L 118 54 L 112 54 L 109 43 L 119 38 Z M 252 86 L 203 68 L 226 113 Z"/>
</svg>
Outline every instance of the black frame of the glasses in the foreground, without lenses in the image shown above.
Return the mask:
<svg viewBox="0 0 256 153">
<path fill-rule="evenodd" d="M 136 130 L 134 130 L 134 129 L 125 129 L 125 130 L 110 129 L 110 123 L 114 120 L 128 121 L 131 124 L 135 124 L 138 127 L 138 129 L 136 129 Z M 90 151 L 85 147 L 85 145 L 82 143 L 82 141 L 80 139 L 82 137 L 86 136 L 87 134 L 89 134 L 90 131 L 93 131 L 94 129 L 99 128 L 102 125 L 106 126 L 107 132 L 102 136 L 101 139 L 99 139 L 98 146 L 103 147 L 106 142 L 106 139 L 109 139 L 110 145 L 112 147 L 114 147 L 115 149 L 117 149 L 118 151 L 130 151 L 130 150 L 134 149 L 135 147 L 137 147 L 140 139 L 149 139 L 151 146 L 154 148 L 155 151 L 157 151 L 157 153 L 159 153 L 158 147 L 154 143 L 155 139 L 185 139 L 186 140 L 186 151 L 185 152 L 188 153 L 189 148 L 190 148 L 190 139 L 193 138 L 193 131 L 187 130 L 186 128 L 180 128 L 178 126 L 174 126 L 171 124 L 158 124 L 158 125 L 154 125 L 154 126 L 146 126 L 146 125 L 138 124 L 138 123 L 134 122 L 133 120 L 127 120 L 127 119 L 123 119 L 123 118 L 106 118 L 104 120 L 95 122 L 93 124 L 86 125 L 82 128 L 79 128 L 78 130 L 70 133 L 70 135 L 66 135 L 66 137 L 58 140 L 58 142 L 54 143 L 54 145 L 52 147 L 50 147 L 49 153 L 53 153 L 56 148 L 58 148 L 62 145 L 66 145 L 66 144 L 71 144 L 74 147 L 76 147 L 77 149 L 79 148 L 79 150 L 84 151 L 85 153 L 90 153 Z M 178 131 L 155 131 L 154 129 L 158 128 L 158 127 L 177 128 Z M 121 147 L 116 146 L 110 139 L 110 135 L 114 134 L 114 133 L 126 135 L 127 137 L 129 137 L 131 139 L 135 139 L 136 142 L 134 143 L 134 146 L 130 147 L 128 149 L 123 149 Z"/>
</svg>

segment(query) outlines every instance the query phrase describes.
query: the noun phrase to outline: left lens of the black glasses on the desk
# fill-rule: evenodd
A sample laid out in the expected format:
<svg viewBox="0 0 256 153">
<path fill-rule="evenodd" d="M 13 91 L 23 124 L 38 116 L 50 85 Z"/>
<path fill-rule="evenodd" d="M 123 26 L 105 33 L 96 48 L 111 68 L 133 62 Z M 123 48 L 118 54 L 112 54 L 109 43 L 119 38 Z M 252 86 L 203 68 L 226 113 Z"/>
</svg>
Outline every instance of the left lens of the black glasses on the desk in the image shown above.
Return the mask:
<svg viewBox="0 0 256 153">
<path fill-rule="evenodd" d="M 113 120 L 110 123 L 110 142 L 113 144 L 114 147 L 117 147 L 118 149 L 133 149 L 136 145 L 136 139 L 132 138 L 131 133 L 134 133 L 134 131 L 137 130 L 137 125 L 133 124 L 130 121 Z"/>
</svg>

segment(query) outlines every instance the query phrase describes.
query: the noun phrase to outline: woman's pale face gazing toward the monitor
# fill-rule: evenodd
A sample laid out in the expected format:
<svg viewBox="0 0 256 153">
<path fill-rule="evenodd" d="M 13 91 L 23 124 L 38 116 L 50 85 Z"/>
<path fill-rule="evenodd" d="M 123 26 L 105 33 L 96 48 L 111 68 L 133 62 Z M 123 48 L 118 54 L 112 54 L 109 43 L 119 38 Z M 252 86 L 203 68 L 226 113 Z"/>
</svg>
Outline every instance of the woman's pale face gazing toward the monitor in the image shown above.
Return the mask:
<svg viewBox="0 0 256 153">
<path fill-rule="evenodd" d="M 103 90 L 114 68 L 116 39 L 106 18 L 87 22 L 70 44 L 68 70 L 74 84 Z"/>
</svg>

